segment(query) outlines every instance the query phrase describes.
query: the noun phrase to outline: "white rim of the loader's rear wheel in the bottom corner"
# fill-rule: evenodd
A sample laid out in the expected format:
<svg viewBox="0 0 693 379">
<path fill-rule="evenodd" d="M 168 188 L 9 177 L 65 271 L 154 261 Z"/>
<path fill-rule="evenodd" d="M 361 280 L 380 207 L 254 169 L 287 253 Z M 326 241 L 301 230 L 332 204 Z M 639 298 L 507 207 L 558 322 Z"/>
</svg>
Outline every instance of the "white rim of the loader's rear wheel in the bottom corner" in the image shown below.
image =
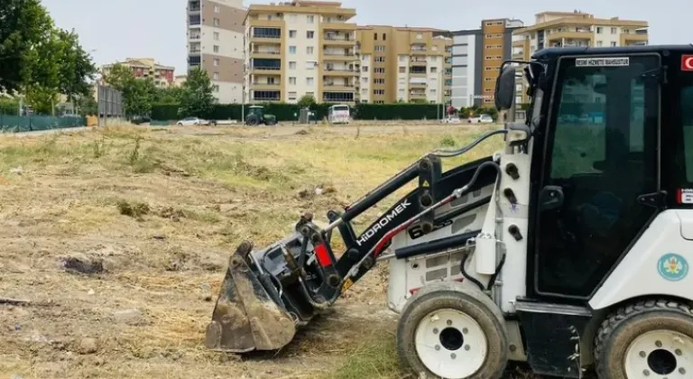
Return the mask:
<svg viewBox="0 0 693 379">
<path fill-rule="evenodd" d="M 628 378 L 686 378 L 693 374 L 693 338 L 673 330 L 636 337 L 625 353 Z"/>
</svg>

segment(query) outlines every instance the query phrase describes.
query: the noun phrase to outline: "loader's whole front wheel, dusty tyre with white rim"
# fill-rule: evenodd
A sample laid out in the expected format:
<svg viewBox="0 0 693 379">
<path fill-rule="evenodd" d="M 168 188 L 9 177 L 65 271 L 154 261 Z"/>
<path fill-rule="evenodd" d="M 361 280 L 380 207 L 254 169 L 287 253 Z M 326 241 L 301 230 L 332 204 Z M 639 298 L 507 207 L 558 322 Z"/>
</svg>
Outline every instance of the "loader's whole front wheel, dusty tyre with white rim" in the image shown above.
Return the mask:
<svg viewBox="0 0 693 379">
<path fill-rule="evenodd" d="M 508 362 L 504 330 L 479 300 L 459 291 L 434 291 L 403 310 L 397 354 L 402 368 L 417 378 L 499 379 Z M 431 369 L 425 362 L 438 365 Z"/>
</svg>

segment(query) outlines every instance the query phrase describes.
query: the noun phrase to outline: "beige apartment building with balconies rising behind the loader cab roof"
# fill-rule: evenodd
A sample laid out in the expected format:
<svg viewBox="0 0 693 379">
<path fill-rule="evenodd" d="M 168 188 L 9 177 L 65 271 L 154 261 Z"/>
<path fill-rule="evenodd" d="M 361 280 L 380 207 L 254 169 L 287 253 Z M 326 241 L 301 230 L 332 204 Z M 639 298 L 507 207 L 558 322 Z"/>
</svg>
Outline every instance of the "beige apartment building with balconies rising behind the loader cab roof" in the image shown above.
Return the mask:
<svg viewBox="0 0 693 379">
<path fill-rule="evenodd" d="M 534 51 L 549 47 L 646 45 L 647 28 L 646 21 L 596 18 L 579 11 L 542 12 L 533 25 L 513 32 L 513 59 L 529 60 Z M 527 101 L 525 83 L 518 84 L 515 102 Z"/>
</svg>

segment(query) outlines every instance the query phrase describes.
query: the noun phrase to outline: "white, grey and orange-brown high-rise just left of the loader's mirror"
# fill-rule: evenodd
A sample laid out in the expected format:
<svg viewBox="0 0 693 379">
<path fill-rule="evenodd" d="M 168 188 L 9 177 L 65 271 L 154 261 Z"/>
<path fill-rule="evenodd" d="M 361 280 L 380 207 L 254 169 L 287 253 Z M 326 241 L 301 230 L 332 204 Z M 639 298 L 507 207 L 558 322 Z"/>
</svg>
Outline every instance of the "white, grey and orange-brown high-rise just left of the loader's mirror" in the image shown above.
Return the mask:
<svg viewBox="0 0 693 379">
<path fill-rule="evenodd" d="M 521 20 L 483 20 L 479 29 L 452 32 L 452 105 L 494 106 L 495 81 L 512 56 L 513 31 Z"/>
</svg>

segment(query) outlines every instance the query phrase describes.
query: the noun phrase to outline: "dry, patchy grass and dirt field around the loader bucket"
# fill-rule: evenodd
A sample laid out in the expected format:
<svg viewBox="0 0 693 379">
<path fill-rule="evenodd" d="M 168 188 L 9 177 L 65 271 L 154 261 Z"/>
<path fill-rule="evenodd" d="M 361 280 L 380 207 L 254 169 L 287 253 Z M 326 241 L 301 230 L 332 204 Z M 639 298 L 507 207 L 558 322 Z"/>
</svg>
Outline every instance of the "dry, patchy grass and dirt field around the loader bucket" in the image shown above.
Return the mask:
<svg viewBox="0 0 693 379">
<path fill-rule="evenodd" d="M 0 137 L 0 298 L 30 301 L 0 304 L 0 377 L 353 377 L 359 355 L 393 340 L 386 266 L 288 347 L 239 357 L 203 345 L 228 254 L 245 239 L 263 246 L 286 236 L 303 211 L 324 218 L 422 153 L 487 127 L 107 127 Z M 483 143 L 457 163 L 498 146 Z M 358 377 L 399 377 L 390 350 Z"/>
</svg>

